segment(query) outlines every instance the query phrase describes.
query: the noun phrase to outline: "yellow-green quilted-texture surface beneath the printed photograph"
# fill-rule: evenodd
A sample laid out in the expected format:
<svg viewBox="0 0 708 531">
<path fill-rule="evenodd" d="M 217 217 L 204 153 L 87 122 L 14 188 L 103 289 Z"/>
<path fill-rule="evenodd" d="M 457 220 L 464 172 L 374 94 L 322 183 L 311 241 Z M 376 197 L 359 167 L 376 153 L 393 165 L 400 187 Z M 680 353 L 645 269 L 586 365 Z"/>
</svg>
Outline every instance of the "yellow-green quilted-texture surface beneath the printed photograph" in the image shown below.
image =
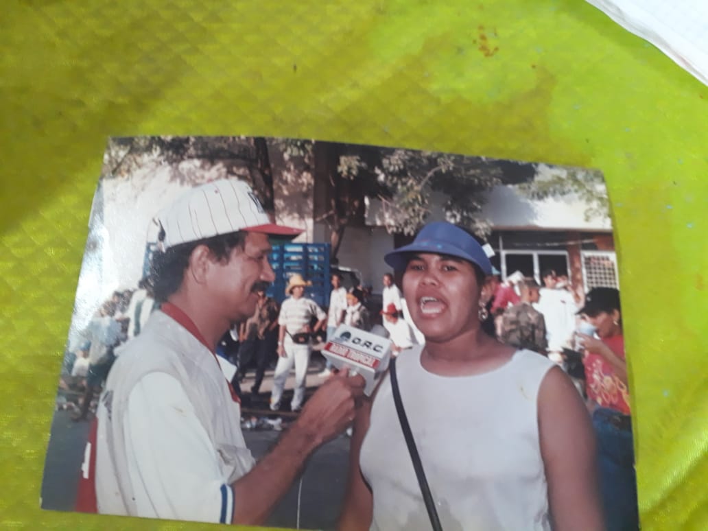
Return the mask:
<svg viewBox="0 0 708 531">
<path fill-rule="evenodd" d="M 708 88 L 658 50 L 582 0 L 1 11 L 0 527 L 195 527 L 42 511 L 40 482 L 106 138 L 246 134 L 602 169 L 641 520 L 708 528 Z"/>
</svg>

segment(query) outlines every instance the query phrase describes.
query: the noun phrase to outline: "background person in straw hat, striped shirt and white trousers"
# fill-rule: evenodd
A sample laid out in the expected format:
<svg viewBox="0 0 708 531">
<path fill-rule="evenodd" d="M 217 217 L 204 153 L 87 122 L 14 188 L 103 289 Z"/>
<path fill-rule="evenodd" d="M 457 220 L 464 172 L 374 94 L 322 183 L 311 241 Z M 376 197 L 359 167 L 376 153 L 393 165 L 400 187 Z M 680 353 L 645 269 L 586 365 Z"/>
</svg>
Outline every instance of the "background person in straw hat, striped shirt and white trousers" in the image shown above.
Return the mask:
<svg viewBox="0 0 708 531">
<path fill-rule="evenodd" d="M 312 282 L 304 280 L 302 275 L 295 273 L 288 279 L 285 292 L 290 295 L 282 302 L 278 324 L 280 331 L 278 335 L 278 365 L 275 365 L 275 375 L 273 375 L 273 391 L 270 394 L 270 409 L 278 411 L 280 409 L 280 399 L 282 389 L 285 387 L 285 380 L 290 374 L 292 365 L 295 365 L 295 391 L 292 394 L 290 409 L 299 411 L 302 409 L 302 400 L 305 396 L 305 377 L 307 377 L 307 366 L 309 365 L 312 347 L 310 346 L 310 336 L 324 326 L 327 314 L 317 306 L 312 299 L 303 297 L 305 287 L 312 285 Z M 314 328 L 310 328 L 312 319 L 317 319 Z"/>
</svg>

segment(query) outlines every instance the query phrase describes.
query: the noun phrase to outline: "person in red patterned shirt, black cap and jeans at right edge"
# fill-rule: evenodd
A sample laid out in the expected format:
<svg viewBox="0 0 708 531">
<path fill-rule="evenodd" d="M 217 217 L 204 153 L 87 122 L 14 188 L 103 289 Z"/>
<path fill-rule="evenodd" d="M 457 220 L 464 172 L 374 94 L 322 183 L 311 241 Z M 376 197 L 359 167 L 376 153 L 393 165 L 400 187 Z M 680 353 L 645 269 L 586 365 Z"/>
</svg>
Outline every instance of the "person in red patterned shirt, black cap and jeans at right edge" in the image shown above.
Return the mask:
<svg viewBox="0 0 708 531">
<path fill-rule="evenodd" d="M 578 333 L 578 338 L 584 349 L 588 409 L 598 436 L 605 525 L 608 531 L 636 530 L 639 514 L 619 291 L 594 287 L 578 314 L 595 328 L 593 336 Z"/>
</svg>

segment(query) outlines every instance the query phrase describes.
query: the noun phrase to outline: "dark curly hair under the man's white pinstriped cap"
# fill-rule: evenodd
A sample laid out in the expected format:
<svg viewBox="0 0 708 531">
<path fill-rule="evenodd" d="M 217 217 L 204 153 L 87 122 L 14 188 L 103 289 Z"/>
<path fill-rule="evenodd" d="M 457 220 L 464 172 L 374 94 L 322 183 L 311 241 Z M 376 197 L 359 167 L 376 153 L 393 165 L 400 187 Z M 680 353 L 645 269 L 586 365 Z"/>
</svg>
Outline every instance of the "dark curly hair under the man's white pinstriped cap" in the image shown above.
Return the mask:
<svg viewBox="0 0 708 531">
<path fill-rule="evenodd" d="M 218 261 L 227 263 L 231 252 L 236 248 L 243 249 L 245 241 L 246 232 L 240 231 L 179 244 L 164 253 L 156 252 L 150 262 L 150 280 L 156 302 L 165 302 L 179 289 L 189 257 L 198 246 L 207 246 Z"/>
</svg>

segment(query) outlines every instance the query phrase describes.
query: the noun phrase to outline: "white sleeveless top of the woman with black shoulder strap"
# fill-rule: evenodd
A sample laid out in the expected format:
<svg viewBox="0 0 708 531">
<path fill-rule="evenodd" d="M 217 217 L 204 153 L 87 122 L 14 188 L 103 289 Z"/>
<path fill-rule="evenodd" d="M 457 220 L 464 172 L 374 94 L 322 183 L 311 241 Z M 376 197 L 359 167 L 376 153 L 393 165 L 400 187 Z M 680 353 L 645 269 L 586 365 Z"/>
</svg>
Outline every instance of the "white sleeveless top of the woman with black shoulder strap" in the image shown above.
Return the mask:
<svg viewBox="0 0 708 531">
<path fill-rule="evenodd" d="M 537 397 L 555 364 L 518 350 L 491 372 L 442 377 L 423 369 L 421 350 L 396 358 L 396 369 L 442 528 L 550 530 Z M 388 377 L 372 406 L 360 466 L 373 491 L 372 530 L 430 529 Z"/>
</svg>

